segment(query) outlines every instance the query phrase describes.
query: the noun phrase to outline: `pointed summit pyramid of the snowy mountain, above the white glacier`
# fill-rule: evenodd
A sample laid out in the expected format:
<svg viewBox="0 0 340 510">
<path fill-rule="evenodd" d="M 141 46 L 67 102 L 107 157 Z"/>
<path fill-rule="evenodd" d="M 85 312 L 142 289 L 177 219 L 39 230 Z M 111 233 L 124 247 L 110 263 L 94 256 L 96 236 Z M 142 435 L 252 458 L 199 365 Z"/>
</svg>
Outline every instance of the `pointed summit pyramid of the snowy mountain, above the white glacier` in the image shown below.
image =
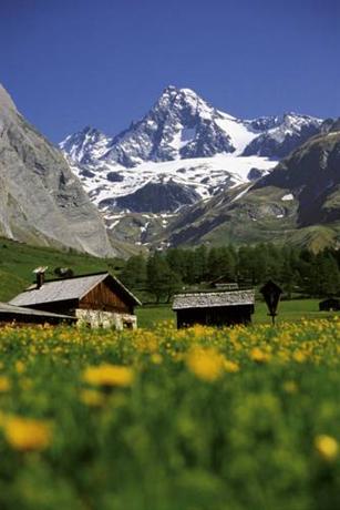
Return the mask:
<svg viewBox="0 0 340 510">
<path fill-rule="evenodd" d="M 240 153 L 254 136 L 241 121 L 194 91 L 168 86 L 142 121 L 112 140 L 105 160 L 131 167 L 146 161 Z"/>
</svg>

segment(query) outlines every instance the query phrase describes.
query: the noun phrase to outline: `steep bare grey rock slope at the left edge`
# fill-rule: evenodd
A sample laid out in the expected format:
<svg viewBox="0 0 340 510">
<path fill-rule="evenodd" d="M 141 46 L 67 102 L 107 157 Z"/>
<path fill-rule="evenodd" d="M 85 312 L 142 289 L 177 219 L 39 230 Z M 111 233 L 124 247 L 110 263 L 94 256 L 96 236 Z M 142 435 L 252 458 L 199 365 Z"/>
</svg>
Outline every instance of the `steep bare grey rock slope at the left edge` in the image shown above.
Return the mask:
<svg viewBox="0 0 340 510">
<path fill-rule="evenodd" d="M 104 224 L 62 154 L 0 85 L 0 234 L 112 256 Z"/>
</svg>

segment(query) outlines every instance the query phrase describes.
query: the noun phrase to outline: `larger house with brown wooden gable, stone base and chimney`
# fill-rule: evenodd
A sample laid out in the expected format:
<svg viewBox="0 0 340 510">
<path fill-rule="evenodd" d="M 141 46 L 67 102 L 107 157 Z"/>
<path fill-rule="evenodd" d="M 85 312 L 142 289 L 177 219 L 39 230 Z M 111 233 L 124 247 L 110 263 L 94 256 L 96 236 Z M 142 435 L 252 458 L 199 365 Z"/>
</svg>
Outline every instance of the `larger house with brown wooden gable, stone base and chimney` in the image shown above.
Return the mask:
<svg viewBox="0 0 340 510">
<path fill-rule="evenodd" d="M 136 328 L 134 307 L 141 302 L 114 276 L 97 273 L 37 283 L 11 299 L 10 305 L 76 317 L 92 327 Z"/>
</svg>

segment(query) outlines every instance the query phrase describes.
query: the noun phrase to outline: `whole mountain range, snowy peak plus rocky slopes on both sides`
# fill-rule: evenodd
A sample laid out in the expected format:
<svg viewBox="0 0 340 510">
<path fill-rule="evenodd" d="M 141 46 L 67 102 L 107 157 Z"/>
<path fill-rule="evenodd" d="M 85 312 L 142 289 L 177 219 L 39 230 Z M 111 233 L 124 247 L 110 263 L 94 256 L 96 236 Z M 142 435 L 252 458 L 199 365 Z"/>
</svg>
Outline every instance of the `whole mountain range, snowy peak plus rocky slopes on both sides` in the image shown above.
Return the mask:
<svg viewBox="0 0 340 510">
<path fill-rule="evenodd" d="M 0 234 L 107 256 L 112 244 L 132 253 L 329 228 L 340 221 L 339 128 L 297 113 L 240 120 L 168 86 L 115 136 L 69 135 L 62 156 L 0 88 Z"/>
</svg>

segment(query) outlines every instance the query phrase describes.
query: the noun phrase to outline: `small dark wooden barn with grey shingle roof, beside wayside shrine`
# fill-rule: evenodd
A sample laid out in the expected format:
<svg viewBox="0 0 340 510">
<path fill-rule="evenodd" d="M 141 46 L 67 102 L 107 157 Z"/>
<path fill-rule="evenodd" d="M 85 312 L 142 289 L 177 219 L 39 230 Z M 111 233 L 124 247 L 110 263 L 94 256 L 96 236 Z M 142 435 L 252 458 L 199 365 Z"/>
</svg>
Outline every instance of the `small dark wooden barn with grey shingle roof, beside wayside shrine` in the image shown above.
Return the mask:
<svg viewBox="0 0 340 510">
<path fill-rule="evenodd" d="M 177 294 L 173 310 L 177 314 L 178 328 L 194 324 L 231 326 L 251 322 L 254 303 L 254 290 Z"/>
</svg>

